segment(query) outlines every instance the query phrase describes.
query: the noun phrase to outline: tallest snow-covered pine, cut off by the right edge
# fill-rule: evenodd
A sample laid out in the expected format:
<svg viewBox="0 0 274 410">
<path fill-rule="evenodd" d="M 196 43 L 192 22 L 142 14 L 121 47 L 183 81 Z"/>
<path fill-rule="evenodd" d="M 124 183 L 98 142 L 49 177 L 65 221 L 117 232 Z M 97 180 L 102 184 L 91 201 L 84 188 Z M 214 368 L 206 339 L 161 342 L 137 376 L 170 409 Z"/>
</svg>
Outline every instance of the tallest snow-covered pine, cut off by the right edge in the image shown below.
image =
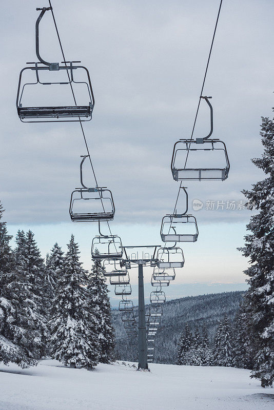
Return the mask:
<svg viewBox="0 0 274 410">
<path fill-rule="evenodd" d="M 251 216 L 240 248 L 250 259 L 245 271 L 249 289 L 245 296 L 249 335 L 256 351 L 251 377 L 261 380 L 263 387 L 274 380 L 274 122 L 263 117 L 261 126 L 264 152 L 261 158 L 251 161 L 267 175 L 255 183 L 250 191 L 243 191 L 249 210 L 259 211 Z"/>
</svg>

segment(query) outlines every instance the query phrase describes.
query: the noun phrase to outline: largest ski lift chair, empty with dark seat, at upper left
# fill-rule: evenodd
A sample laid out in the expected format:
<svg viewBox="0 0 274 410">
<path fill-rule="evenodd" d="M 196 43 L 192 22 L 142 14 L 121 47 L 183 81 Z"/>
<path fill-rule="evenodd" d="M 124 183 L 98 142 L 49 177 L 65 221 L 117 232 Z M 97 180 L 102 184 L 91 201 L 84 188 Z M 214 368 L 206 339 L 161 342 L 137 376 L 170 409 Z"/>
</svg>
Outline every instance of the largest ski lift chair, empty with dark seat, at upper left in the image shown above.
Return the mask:
<svg viewBox="0 0 274 410">
<path fill-rule="evenodd" d="M 86 67 L 75 65 L 75 63 L 81 63 L 81 61 L 62 61 L 62 64 L 59 63 L 48 63 L 40 56 L 39 50 L 39 24 L 46 11 L 51 10 L 51 7 L 37 8 L 36 10 L 41 10 L 40 15 L 36 20 L 35 26 L 35 39 L 36 39 L 36 56 L 38 58 L 38 63 L 27 63 L 33 64 L 33 66 L 25 67 L 21 70 L 19 75 L 19 83 L 17 89 L 16 97 L 16 108 L 19 118 L 22 122 L 60 122 L 60 121 L 79 121 L 80 118 L 82 121 L 89 121 L 91 119 L 92 110 L 94 107 L 94 96 L 91 87 L 91 81 L 89 72 Z M 68 64 L 67 64 L 68 63 Z M 75 79 L 75 71 L 81 71 L 84 74 L 84 77 L 79 77 L 80 80 Z M 66 72 L 66 76 L 63 77 L 62 72 Z M 27 76 L 30 74 L 30 79 Z M 81 73 L 82 74 L 82 73 Z M 23 77 L 28 77 L 23 80 Z M 44 76 L 47 76 L 43 79 Z M 82 80 L 81 80 L 82 79 Z M 86 90 L 88 101 L 86 105 L 77 106 L 74 99 L 74 105 L 53 105 L 54 101 L 62 93 L 56 93 L 55 85 L 68 87 L 68 91 L 71 93 L 73 85 Z M 41 87 L 39 87 L 41 86 Z M 41 98 L 41 91 L 48 89 L 49 86 L 53 86 L 51 96 L 52 104 L 50 106 L 37 106 L 30 107 L 28 103 L 25 103 L 23 96 L 26 93 L 26 90 L 32 87 L 38 89 L 38 96 Z M 75 90 L 73 90 L 75 92 Z M 65 118 L 65 119 L 64 119 Z"/>
</svg>

